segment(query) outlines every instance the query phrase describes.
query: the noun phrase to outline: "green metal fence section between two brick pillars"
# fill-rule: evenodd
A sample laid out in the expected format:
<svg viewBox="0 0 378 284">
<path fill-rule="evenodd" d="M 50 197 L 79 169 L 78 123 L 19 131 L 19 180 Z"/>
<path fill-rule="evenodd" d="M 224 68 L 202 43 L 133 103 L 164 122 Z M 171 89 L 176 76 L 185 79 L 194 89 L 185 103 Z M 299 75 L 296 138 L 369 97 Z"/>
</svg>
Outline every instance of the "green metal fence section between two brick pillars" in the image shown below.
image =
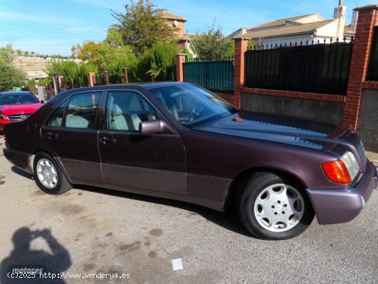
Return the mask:
<svg viewBox="0 0 378 284">
<path fill-rule="evenodd" d="M 223 94 L 234 93 L 234 58 L 184 63 L 184 81 Z"/>
</svg>

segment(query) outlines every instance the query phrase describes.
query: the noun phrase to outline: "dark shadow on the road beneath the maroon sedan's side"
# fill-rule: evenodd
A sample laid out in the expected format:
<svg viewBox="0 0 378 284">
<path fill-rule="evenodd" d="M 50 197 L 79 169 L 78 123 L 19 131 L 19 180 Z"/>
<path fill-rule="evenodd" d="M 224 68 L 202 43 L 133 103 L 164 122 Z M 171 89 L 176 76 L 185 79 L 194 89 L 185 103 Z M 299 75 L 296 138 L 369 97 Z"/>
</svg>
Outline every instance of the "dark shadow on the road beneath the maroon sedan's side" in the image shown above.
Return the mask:
<svg viewBox="0 0 378 284">
<path fill-rule="evenodd" d="M 227 212 L 223 213 L 223 212 L 205 208 L 196 204 L 189 204 L 184 201 L 164 199 L 160 197 L 151 197 L 147 195 L 137 195 L 135 193 L 124 193 L 123 191 L 108 190 L 108 189 L 96 188 L 92 186 L 75 186 L 75 188 L 80 188 L 82 190 L 87 190 L 94 193 L 100 193 L 100 194 L 111 195 L 111 196 L 116 196 L 116 197 L 123 197 L 123 198 L 128 198 L 128 199 L 139 200 L 139 201 L 151 202 L 155 204 L 162 204 L 164 206 L 181 208 L 181 209 L 193 212 L 193 214 L 197 213 L 201 215 L 202 217 L 204 217 L 205 219 L 208 219 L 209 221 L 216 223 L 217 225 L 227 230 L 231 230 L 232 232 L 236 232 L 238 234 L 251 237 L 249 232 L 245 230 L 245 228 L 239 221 L 238 215 L 236 213 L 236 209 L 233 207 L 231 207 L 230 210 L 227 210 Z"/>
</svg>

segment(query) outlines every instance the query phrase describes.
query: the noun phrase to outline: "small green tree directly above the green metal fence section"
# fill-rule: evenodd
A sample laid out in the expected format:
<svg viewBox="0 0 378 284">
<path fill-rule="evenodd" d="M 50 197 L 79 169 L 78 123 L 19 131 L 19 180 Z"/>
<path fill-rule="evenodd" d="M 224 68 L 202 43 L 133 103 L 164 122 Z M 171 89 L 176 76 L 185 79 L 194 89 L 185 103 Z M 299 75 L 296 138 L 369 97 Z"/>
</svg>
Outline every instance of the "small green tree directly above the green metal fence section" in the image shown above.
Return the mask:
<svg viewBox="0 0 378 284">
<path fill-rule="evenodd" d="M 191 39 L 201 60 L 221 60 L 232 56 L 232 39 L 223 36 L 221 28 L 214 28 L 214 25 L 213 22 L 207 32 L 197 32 Z"/>
</svg>

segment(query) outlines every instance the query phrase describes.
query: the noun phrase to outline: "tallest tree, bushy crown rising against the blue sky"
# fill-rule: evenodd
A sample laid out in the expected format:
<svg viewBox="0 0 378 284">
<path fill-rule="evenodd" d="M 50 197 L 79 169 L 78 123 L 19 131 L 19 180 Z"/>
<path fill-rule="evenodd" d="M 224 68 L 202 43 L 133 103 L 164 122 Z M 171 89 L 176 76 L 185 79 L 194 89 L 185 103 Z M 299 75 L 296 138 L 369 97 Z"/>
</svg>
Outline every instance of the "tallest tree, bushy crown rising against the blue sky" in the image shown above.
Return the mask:
<svg viewBox="0 0 378 284">
<path fill-rule="evenodd" d="M 177 28 L 169 27 L 166 20 L 161 17 L 163 9 L 149 0 L 131 0 L 131 5 L 126 5 L 124 14 L 112 12 L 112 16 L 118 21 L 111 25 L 111 30 L 117 31 L 129 45 L 135 55 L 139 56 L 151 50 L 153 45 L 159 42 L 170 42 L 177 38 Z"/>
</svg>

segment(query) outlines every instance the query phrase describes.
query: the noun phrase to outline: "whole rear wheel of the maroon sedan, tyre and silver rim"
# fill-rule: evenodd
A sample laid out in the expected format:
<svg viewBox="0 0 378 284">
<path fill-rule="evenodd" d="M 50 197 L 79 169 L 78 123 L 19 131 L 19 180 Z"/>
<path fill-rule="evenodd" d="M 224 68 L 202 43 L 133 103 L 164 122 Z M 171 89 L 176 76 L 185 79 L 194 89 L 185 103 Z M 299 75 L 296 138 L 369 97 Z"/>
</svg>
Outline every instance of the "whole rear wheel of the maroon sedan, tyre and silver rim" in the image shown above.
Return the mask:
<svg viewBox="0 0 378 284">
<path fill-rule="evenodd" d="M 36 184 L 45 193 L 60 195 L 72 188 L 58 164 L 47 153 L 37 153 L 33 166 Z"/>
</svg>

